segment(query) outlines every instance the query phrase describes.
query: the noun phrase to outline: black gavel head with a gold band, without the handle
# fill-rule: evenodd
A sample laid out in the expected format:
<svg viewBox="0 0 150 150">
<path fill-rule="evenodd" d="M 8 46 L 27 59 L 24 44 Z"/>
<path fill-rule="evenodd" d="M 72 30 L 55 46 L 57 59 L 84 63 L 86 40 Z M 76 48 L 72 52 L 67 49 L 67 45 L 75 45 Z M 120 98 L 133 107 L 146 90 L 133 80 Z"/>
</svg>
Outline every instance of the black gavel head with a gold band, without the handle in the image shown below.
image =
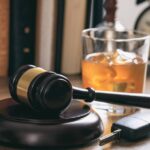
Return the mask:
<svg viewBox="0 0 150 150">
<path fill-rule="evenodd" d="M 17 70 L 9 89 L 14 100 L 41 112 L 59 114 L 72 99 L 72 85 L 65 76 L 33 65 Z"/>
</svg>

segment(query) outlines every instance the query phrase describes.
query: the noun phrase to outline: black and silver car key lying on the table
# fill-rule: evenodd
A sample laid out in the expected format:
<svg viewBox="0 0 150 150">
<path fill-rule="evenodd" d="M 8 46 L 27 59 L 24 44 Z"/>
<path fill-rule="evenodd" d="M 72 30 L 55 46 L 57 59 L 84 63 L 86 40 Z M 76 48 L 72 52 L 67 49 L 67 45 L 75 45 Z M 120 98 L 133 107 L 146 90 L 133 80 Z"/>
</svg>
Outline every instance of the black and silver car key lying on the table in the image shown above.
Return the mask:
<svg viewBox="0 0 150 150">
<path fill-rule="evenodd" d="M 140 140 L 150 133 L 150 112 L 138 112 L 126 116 L 113 123 L 111 131 L 109 135 L 100 138 L 100 145 L 119 139 Z"/>
</svg>

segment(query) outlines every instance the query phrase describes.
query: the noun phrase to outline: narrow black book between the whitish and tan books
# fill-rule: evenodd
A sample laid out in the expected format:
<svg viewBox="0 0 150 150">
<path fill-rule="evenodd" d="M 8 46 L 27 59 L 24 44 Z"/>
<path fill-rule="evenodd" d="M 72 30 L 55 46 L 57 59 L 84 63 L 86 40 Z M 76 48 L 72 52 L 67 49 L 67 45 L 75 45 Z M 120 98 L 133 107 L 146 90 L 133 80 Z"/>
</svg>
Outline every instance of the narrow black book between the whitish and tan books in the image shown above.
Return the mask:
<svg viewBox="0 0 150 150">
<path fill-rule="evenodd" d="M 54 70 L 57 73 L 61 73 L 62 63 L 62 44 L 63 44 L 63 28 L 64 28 L 64 10 L 65 0 L 56 0 L 57 13 L 56 13 L 56 36 L 55 36 L 55 60 Z"/>
</svg>

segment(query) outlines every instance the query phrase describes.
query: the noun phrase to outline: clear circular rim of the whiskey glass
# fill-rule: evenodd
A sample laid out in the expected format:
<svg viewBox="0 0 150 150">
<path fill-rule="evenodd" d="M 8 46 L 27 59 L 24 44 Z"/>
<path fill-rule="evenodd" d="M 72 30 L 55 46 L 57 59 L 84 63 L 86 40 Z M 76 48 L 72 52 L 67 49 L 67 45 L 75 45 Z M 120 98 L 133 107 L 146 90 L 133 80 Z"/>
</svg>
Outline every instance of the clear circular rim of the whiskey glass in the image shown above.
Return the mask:
<svg viewBox="0 0 150 150">
<path fill-rule="evenodd" d="M 128 39 L 125 39 L 125 38 L 106 39 L 106 38 L 97 38 L 97 37 L 94 37 L 94 36 L 87 35 L 87 32 L 97 31 L 97 30 L 98 30 L 98 28 L 84 29 L 84 30 L 82 30 L 82 37 L 97 40 L 97 41 L 110 41 L 110 42 L 131 42 L 131 41 L 140 41 L 140 40 L 150 39 L 150 34 L 147 34 L 147 33 L 141 32 L 141 31 L 137 31 L 137 30 L 126 30 L 125 32 L 132 33 L 133 35 L 135 35 L 135 33 L 136 33 L 136 34 L 141 35 L 141 37 L 131 37 L 131 38 L 128 38 Z M 121 32 L 121 31 L 118 31 L 118 32 Z"/>
</svg>

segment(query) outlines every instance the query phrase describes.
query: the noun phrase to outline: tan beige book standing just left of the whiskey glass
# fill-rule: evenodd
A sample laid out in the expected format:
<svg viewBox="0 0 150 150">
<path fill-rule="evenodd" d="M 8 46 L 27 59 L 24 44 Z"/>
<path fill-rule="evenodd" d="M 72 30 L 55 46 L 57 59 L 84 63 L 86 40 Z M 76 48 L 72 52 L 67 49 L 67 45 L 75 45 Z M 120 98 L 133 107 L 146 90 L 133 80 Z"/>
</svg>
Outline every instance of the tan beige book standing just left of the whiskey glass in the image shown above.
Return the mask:
<svg viewBox="0 0 150 150">
<path fill-rule="evenodd" d="M 61 72 L 63 74 L 80 73 L 82 57 L 81 32 L 85 27 L 85 20 L 86 0 L 66 0 L 61 60 Z"/>
</svg>

